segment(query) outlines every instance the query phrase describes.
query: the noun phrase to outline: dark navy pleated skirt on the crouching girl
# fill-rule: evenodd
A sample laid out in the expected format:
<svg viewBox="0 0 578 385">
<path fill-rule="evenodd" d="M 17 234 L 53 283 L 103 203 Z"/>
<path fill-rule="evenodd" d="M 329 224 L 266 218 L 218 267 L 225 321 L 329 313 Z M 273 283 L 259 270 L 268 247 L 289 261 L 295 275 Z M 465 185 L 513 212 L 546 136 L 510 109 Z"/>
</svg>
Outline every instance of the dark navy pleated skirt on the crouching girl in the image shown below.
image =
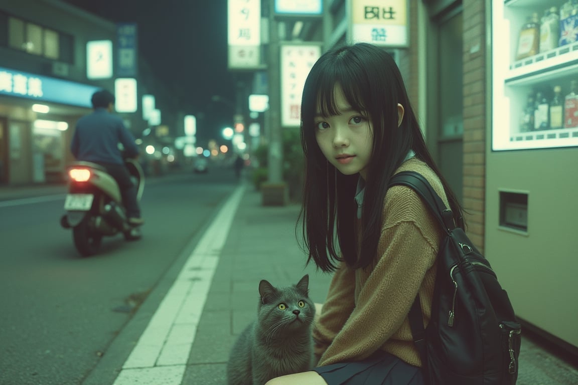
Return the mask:
<svg viewBox="0 0 578 385">
<path fill-rule="evenodd" d="M 328 385 L 424 385 L 421 368 L 386 352 L 363 361 L 314 368 Z"/>
</svg>

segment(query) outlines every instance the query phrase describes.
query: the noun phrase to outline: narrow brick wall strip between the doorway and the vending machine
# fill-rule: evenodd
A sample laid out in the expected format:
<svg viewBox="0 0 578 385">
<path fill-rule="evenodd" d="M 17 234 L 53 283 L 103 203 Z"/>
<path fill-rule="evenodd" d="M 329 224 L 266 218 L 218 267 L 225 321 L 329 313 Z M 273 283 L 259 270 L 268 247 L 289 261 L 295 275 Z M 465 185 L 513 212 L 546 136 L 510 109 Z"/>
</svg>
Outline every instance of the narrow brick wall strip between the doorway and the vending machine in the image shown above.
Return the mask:
<svg viewBox="0 0 578 385">
<path fill-rule="evenodd" d="M 463 0 L 464 205 L 468 236 L 484 246 L 486 191 L 486 2 Z"/>
</svg>

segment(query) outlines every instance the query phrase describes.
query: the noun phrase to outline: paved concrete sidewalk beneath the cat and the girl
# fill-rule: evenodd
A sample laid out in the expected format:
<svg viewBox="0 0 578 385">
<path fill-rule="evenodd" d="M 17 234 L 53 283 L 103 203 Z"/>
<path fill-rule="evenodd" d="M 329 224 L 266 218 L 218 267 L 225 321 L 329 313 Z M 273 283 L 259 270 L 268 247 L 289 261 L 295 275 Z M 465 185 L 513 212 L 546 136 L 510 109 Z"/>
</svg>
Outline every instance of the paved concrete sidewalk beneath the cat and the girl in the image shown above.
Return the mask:
<svg viewBox="0 0 578 385">
<path fill-rule="evenodd" d="M 299 205 L 264 207 L 248 188 L 240 202 L 197 328 L 182 384 L 224 385 L 229 349 L 256 316 L 258 283 L 297 283 L 309 274 L 310 297 L 323 302 L 331 276 L 305 268 L 306 257 L 295 238 Z M 299 228 L 297 229 L 300 230 Z M 576 385 L 578 370 L 523 339 L 518 385 Z"/>
</svg>

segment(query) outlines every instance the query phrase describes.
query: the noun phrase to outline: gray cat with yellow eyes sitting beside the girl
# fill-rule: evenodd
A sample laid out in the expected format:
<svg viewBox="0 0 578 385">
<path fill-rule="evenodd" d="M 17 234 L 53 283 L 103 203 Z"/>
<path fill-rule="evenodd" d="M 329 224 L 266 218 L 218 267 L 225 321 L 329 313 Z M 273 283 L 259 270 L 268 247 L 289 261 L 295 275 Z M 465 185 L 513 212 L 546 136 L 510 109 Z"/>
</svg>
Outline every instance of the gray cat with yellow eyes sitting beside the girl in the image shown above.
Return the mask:
<svg viewBox="0 0 578 385">
<path fill-rule="evenodd" d="M 315 305 L 309 299 L 309 275 L 283 288 L 263 279 L 259 294 L 257 320 L 243 330 L 231 350 L 229 385 L 263 385 L 312 369 Z"/>
</svg>

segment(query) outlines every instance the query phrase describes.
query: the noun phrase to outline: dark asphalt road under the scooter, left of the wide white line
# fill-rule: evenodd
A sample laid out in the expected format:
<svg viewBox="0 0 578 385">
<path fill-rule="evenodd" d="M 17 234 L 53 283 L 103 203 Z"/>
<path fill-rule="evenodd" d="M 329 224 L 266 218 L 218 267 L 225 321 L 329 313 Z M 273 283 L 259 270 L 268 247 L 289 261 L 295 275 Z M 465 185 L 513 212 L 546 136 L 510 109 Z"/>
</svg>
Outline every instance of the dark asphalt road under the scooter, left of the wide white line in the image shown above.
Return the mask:
<svg viewBox="0 0 578 385">
<path fill-rule="evenodd" d="M 237 185 L 231 169 L 158 178 L 142 240 L 104 238 L 89 258 L 58 223 L 64 193 L 0 206 L 0 385 L 83 382 Z"/>
</svg>

